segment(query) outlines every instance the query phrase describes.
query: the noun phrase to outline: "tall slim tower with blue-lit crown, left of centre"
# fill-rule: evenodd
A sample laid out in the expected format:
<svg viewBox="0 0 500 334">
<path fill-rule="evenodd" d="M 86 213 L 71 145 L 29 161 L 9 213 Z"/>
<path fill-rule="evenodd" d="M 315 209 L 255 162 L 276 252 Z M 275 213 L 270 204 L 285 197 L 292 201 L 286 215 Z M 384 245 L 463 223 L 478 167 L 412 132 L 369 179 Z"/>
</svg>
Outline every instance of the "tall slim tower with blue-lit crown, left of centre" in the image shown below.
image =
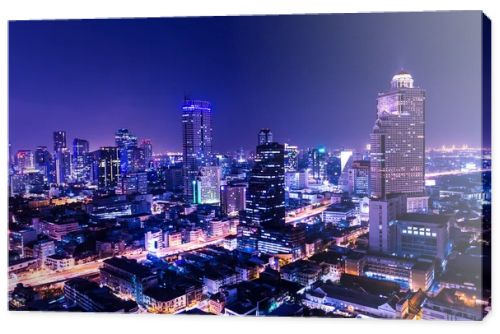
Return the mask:
<svg viewBox="0 0 500 334">
<path fill-rule="evenodd" d="M 182 157 L 184 196 L 195 202 L 193 185 L 198 168 L 208 164 L 212 154 L 212 107 L 208 101 L 185 100 L 182 106 Z"/>
</svg>

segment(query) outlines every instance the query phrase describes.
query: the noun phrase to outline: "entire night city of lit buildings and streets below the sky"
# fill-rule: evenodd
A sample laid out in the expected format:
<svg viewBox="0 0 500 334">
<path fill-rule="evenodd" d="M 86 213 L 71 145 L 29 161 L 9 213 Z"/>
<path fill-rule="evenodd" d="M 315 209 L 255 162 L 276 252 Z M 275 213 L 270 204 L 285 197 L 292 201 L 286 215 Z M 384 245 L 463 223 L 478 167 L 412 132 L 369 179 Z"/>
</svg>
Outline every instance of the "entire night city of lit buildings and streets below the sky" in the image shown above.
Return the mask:
<svg viewBox="0 0 500 334">
<path fill-rule="evenodd" d="M 59 124 L 50 146 L 11 145 L 9 309 L 482 320 L 491 150 L 429 145 L 432 92 L 406 69 L 382 79 L 352 146 L 268 122 L 218 149 L 219 102 L 194 94 L 169 119 L 175 150 L 135 122 L 106 146 Z"/>
</svg>

